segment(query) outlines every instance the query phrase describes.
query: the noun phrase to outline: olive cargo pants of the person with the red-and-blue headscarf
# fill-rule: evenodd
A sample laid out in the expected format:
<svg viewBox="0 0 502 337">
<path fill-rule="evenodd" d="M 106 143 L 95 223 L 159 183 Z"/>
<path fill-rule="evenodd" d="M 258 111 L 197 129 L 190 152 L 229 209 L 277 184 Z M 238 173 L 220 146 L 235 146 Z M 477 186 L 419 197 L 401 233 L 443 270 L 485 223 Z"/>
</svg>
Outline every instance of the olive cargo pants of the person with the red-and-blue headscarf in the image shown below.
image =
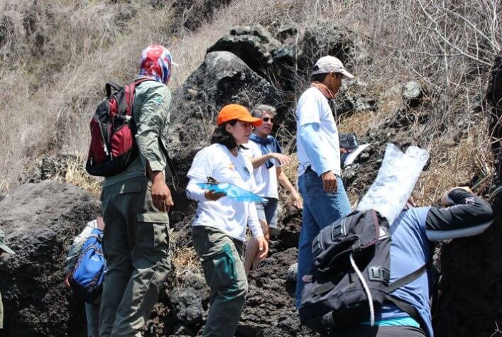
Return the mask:
<svg viewBox="0 0 502 337">
<path fill-rule="evenodd" d="M 102 208 L 107 270 L 99 336 L 142 336 L 170 270 L 168 214 L 153 206 L 146 177 L 104 187 Z"/>
</svg>

